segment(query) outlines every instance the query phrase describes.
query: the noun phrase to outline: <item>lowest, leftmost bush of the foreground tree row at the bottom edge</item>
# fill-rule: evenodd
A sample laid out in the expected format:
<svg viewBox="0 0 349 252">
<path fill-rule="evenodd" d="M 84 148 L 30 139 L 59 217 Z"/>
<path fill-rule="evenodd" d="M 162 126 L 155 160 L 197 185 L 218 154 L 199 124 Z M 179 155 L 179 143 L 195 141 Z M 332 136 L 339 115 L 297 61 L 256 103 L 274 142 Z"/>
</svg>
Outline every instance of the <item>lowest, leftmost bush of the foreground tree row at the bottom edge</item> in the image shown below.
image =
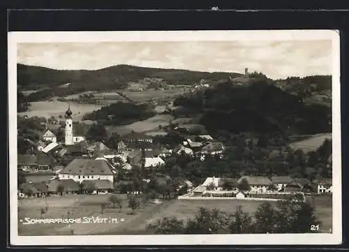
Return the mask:
<svg viewBox="0 0 349 252">
<path fill-rule="evenodd" d="M 153 231 L 156 235 L 181 235 L 184 234 L 184 221 L 175 217 L 156 220 L 147 225 L 147 230 Z"/>
</svg>

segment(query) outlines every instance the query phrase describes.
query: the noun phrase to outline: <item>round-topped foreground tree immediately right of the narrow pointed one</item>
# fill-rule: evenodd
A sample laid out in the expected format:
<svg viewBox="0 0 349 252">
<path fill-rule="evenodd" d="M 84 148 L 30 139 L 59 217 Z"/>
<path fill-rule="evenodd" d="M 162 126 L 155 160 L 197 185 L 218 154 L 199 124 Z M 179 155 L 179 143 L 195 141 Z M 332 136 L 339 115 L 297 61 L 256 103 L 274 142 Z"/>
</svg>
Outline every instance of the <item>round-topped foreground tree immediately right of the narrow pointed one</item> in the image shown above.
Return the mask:
<svg viewBox="0 0 349 252">
<path fill-rule="evenodd" d="M 262 203 L 255 212 L 255 231 L 257 233 L 275 232 L 276 211 L 269 202 Z"/>
</svg>

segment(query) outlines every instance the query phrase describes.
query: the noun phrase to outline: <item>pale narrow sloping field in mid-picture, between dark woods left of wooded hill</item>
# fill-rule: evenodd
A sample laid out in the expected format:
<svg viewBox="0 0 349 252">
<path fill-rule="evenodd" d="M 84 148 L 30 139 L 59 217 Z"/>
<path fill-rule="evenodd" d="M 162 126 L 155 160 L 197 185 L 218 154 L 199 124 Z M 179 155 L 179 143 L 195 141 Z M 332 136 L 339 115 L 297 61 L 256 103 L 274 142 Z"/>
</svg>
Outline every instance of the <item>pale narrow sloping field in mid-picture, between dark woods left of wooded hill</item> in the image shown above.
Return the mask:
<svg viewBox="0 0 349 252">
<path fill-rule="evenodd" d="M 107 126 L 107 131 L 117 132 L 119 135 L 125 135 L 135 132 L 147 132 L 147 131 L 158 131 L 158 126 L 166 126 L 170 124 L 170 120 L 173 117 L 170 114 L 156 114 L 154 117 L 146 119 L 144 121 L 136 121 L 133 124 L 128 124 L 124 126 Z"/>
</svg>

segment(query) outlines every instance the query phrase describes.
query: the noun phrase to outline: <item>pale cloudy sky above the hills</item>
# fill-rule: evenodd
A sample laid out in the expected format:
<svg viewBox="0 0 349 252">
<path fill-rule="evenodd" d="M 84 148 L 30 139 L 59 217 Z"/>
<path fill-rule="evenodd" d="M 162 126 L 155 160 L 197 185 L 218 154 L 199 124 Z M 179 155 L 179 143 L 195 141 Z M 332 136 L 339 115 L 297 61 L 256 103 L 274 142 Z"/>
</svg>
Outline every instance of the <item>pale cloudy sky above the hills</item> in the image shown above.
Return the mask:
<svg viewBox="0 0 349 252">
<path fill-rule="evenodd" d="M 192 71 L 262 72 L 272 79 L 331 75 L 331 40 L 19 43 L 17 63 L 66 70 L 128 64 Z"/>
</svg>

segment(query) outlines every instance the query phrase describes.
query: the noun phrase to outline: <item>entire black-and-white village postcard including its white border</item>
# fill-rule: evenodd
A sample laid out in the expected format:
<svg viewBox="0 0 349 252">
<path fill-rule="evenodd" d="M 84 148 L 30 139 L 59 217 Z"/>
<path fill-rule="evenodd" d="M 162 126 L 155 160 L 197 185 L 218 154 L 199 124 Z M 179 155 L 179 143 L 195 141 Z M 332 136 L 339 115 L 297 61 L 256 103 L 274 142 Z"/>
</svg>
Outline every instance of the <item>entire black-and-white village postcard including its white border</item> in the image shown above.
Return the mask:
<svg viewBox="0 0 349 252">
<path fill-rule="evenodd" d="M 14 245 L 340 244 L 339 32 L 8 34 Z"/>
</svg>

